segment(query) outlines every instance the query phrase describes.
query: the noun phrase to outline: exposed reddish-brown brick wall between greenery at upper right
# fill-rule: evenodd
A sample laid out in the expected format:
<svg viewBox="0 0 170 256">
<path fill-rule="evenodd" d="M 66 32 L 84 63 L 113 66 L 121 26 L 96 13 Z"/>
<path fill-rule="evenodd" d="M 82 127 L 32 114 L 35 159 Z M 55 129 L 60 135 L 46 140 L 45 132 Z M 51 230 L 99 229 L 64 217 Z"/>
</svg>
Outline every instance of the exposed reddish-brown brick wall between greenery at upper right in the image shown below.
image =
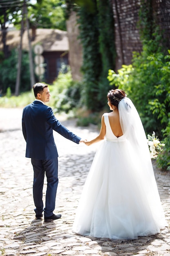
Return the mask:
<svg viewBox="0 0 170 256">
<path fill-rule="evenodd" d="M 139 10 L 142 2 L 152 5 L 152 16 L 163 31 L 165 47 L 170 49 L 170 0 L 111 0 L 115 22 L 116 68 L 129 65 L 132 53 L 141 52 Z"/>
</svg>

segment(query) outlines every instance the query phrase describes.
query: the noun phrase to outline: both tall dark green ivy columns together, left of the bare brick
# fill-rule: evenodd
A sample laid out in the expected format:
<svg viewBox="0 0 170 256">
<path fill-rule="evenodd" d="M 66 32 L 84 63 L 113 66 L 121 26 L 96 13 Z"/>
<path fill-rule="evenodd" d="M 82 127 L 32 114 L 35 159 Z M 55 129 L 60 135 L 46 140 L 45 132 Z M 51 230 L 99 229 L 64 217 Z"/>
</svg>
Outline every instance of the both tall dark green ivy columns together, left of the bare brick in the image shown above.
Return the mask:
<svg viewBox="0 0 170 256">
<path fill-rule="evenodd" d="M 110 0 L 66 2 L 69 11 L 77 12 L 83 46 L 82 102 L 89 110 L 99 111 L 106 104 L 108 69 L 115 66 L 113 8 Z"/>
</svg>

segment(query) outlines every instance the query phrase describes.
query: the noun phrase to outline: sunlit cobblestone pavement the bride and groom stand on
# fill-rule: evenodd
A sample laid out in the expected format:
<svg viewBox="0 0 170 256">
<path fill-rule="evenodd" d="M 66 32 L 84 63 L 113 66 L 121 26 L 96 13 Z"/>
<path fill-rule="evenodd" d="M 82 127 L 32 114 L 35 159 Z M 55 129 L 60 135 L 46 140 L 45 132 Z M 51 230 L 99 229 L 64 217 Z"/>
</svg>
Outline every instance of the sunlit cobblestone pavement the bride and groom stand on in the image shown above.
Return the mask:
<svg viewBox="0 0 170 256">
<path fill-rule="evenodd" d="M 59 185 L 54 222 L 35 220 L 32 197 L 33 170 L 25 158 L 21 130 L 22 109 L 0 108 L 0 255 L 7 256 L 170 256 L 170 228 L 137 240 L 84 237 L 72 231 L 83 184 L 97 144 L 75 144 L 54 132 L 59 153 Z M 58 118 L 83 138 L 97 135 L 95 126 L 81 128 Z M 154 170 L 166 219 L 170 220 L 170 174 Z M 44 193 L 46 182 L 44 184 Z"/>
</svg>

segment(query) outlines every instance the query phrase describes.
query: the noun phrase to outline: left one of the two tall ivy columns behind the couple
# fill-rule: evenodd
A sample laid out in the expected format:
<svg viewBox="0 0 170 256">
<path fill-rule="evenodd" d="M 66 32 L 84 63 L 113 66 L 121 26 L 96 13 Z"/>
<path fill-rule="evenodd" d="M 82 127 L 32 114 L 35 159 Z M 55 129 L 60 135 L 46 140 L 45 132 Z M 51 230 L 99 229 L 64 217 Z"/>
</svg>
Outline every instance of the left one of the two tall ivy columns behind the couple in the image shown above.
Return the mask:
<svg viewBox="0 0 170 256">
<path fill-rule="evenodd" d="M 94 3 L 97 2 L 94 0 Z M 97 101 L 98 81 L 102 72 L 102 60 L 99 52 L 99 29 L 97 5 L 95 12 L 89 12 L 85 7 L 78 12 L 80 39 L 83 45 L 83 88 L 82 97 L 88 109 L 96 110 L 100 107 Z"/>
</svg>

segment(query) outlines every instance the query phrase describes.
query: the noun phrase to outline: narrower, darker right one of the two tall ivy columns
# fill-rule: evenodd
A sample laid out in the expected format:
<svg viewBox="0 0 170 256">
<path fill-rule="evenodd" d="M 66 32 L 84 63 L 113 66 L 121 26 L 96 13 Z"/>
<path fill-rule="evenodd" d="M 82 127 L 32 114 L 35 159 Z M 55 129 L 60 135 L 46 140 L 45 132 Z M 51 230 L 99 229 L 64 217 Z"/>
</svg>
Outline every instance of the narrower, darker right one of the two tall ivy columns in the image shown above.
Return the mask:
<svg viewBox="0 0 170 256">
<path fill-rule="evenodd" d="M 110 88 L 107 76 L 108 70 L 114 69 L 116 50 L 115 50 L 115 31 L 113 20 L 113 7 L 110 0 L 98 0 L 98 20 L 99 20 L 99 51 L 102 58 L 102 73 L 99 77 L 98 101 L 102 107 L 106 104 L 106 94 Z"/>
</svg>

